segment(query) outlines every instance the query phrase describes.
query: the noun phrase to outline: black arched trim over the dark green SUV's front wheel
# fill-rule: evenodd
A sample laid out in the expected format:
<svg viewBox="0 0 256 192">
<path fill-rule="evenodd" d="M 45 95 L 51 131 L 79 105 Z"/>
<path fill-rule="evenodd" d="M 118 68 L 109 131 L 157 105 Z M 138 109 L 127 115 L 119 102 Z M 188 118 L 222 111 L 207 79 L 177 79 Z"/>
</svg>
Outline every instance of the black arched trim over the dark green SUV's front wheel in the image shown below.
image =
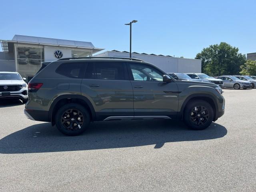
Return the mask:
<svg viewBox="0 0 256 192">
<path fill-rule="evenodd" d="M 218 104 L 214 97 L 209 94 L 192 94 L 186 98 L 186 100 L 183 102 L 182 107 L 180 108 L 180 112 L 178 113 L 178 118 L 183 119 L 184 110 L 189 102 L 192 100 L 204 100 L 208 102 L 214 111 L 214 121 L 217 120 L 217 112 L 218 112 Z"/>
</svg>

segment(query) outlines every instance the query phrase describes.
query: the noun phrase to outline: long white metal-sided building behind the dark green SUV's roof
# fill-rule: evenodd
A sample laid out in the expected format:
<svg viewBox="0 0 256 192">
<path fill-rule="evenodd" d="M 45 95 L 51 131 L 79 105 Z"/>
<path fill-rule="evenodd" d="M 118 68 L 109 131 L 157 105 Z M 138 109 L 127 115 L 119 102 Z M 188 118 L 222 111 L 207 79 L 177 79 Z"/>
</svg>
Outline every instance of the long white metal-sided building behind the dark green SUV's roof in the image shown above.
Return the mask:
<svg viewBox="0 0 256 192">
<path fill-rule="evenodd" d="M 94 57 L 130 57 L 130 53 L 113 50 L 95 54 Z M 186 59 L 145 53 L 138 54 L 135 52 L 132 53 L 132 58 L 137 58 L 148 63 L 152 63 L 165 72 L 201 73 L 201 60 L 199 59 Z"/>
</svg>

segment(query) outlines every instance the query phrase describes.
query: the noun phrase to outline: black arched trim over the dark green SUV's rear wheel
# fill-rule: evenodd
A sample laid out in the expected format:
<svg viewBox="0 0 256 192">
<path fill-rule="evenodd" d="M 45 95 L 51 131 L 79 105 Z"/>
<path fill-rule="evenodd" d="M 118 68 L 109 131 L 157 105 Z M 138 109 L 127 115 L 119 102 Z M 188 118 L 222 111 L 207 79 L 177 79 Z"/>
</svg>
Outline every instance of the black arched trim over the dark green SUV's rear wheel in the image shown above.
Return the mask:
<svg viewBox="0 0 256 192">
<path fill-rule="evenodd" d="M 85 96 L 82 95 L 75 95 L 75 94 L 65 94 L 65 95 L 61 95 L 58 96 L 56 99 L 54 99 L 54 101 L 52 102 L 51 106 L 50 106 L 50 110 L 48 113 L 48 119 L 50 120 L 50 122 L 52 122 L 52 112 L 54 110 L 54 107 L 56 106 L 56 104 L 62 100 L 62 99 L 67 99 L 67 98 L 71 98 L 71 99 L 81 99 L 84 102 L 86 102 L 86 104 L 89 106 L 91 112 L 92 112 L 92 120 L 96 119 L 96 114 L 95 114 L 95 110 L 94 107 L 92 106 L 92 103 L 90 102 L 90 100 L 88 98 L 86 98 Z"/>
</svg>

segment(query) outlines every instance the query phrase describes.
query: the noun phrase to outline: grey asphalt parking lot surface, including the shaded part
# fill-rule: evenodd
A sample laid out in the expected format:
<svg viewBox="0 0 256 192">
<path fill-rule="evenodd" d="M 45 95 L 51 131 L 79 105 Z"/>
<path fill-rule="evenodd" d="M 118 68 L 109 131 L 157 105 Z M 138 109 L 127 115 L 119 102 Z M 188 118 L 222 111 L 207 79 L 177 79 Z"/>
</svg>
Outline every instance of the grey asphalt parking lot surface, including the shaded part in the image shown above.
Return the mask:
<svg viewBox="0 0 256 192">
<path fill-rule="evenodd" d="M 0 101 L 0 191 L 256 191 L 256 89 L 224 89 L 202 131 L 175 120 L 94 122 L 81 136 Z"/>
</svg>

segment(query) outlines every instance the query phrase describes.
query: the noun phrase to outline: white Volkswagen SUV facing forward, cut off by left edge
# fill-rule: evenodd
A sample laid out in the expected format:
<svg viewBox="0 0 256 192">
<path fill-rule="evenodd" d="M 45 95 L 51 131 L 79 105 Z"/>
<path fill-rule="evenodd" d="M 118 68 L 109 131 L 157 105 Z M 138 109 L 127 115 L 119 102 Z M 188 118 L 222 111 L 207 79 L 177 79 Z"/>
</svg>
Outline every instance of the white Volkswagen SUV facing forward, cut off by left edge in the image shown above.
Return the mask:
<svg viewBox="0 0 256 192">
<path fill-rule="evenodd" d="M 18 72 L 0 72 L 0 99 L 28 100 L 28 85 Z"/>
</svg>

